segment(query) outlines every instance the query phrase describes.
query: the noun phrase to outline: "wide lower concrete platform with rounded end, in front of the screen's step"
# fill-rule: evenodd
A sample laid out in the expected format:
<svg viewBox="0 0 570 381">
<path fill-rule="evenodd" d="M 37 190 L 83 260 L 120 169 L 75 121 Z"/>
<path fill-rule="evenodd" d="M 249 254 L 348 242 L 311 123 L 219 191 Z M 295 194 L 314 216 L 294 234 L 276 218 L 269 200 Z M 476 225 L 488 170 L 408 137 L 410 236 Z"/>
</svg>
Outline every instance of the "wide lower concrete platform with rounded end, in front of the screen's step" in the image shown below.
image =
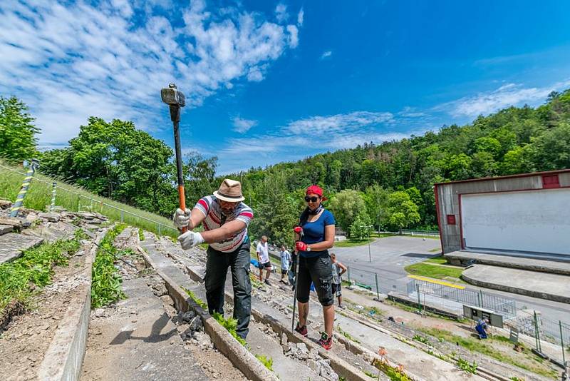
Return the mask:
<svg viewBox="0 0 570 381">
<path fill-rule="evenodd" d="M 507 291 L 561 303 L 570 303 L 570 276 L 537 271 L 473 265 L 461 278 L 484 288 Z"/>
</svg>

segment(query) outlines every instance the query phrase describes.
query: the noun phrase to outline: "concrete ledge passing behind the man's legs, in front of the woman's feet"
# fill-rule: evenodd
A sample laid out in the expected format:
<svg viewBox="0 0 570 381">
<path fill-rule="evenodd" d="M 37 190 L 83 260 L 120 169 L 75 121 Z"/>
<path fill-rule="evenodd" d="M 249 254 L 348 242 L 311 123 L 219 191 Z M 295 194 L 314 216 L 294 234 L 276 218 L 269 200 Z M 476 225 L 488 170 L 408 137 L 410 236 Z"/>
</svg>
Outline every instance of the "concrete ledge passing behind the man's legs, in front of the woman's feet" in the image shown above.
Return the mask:
<svg viewBox="0 0 570 381">
<path fill-rule="evenodd" d="M 185 266 L 189 275 L 195 271 L 194 268 L 191 266 Z M 197 277 L 200 278 L 198 273 L 194 275 L 190 275 L 191 278 Z M 203 281 L 203 280 L 202 280 Z M 224 300 L 228 303 L 234 303 L 234 295 L 227 291 L 224 291 Z M 356 367 L 348 364 L 348 362 L 342 360 L 341 358 L 336 357 L 336 355 L 331 354 L 320 345 L 316 345 L 311 340 L 303 337 L 295 332 L 289 330 L 289 328 L 285 327 L 279 320 L 276 320 L 274 317 L 261 313 L 259 310 L 252 306 L 252 315 L 258 322 L 263 324 L 271 325 L 271 329 L 274 330 L 278 335 L 285 334 L 287 335 L 287 340 L 294 343 L 304 342 L 304 344 L 309 348 L 314 348 L 318 351 L 318 354 L 321 355 L 324 359 L 331 361 L 331 367 L 333 370 L 341 377 L 345 377 L 347 381 L 368 381 L 370 378 L 363 373 L 361 370 L 358 370 Z"/>
</svg>

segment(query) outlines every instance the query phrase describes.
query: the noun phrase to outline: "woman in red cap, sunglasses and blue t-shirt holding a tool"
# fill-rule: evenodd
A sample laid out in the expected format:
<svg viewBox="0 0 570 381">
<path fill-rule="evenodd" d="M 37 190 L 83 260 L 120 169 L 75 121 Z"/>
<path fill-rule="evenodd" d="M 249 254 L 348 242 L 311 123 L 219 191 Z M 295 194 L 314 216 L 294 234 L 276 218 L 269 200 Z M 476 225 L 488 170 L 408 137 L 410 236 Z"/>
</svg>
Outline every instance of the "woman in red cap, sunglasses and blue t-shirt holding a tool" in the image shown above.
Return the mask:
<svg viewBox="0 0 570 381">
<path fill-rule="evenodd" d="M 325 330 L 321 332 L 318 343 L 326 350 L 333 346 L 334 299 L 332 291 L 333 271 L 328 249 L 334 244 L 333 213 L 323 208 L 321 202 L 323 190 L 319 186 L 310 186 L 306 190 L 306 209 L 301 213 L 296 229 L 295 248 L 299 253 L 299 275 L 296 280 L 296 295 L 299 304 L 299 322 L 295 330 L 307 335 L 306 320 L 309 316 L 309 288 L 311 281 L 315 285 L 318 300 L 323 306 Z"/>
</svg>

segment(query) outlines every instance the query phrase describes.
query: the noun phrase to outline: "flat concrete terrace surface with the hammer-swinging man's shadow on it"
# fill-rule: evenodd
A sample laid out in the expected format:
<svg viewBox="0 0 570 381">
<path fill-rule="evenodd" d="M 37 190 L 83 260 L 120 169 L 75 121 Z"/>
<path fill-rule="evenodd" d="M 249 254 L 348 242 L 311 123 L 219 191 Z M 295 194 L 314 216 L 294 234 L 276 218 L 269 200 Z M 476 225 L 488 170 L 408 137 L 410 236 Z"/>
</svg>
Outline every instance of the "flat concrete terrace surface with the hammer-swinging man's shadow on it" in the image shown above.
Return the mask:
<svg viewBox="0 0 570 381">
<path fill-rule="evenodd" d="M 123 290 L 128 298 L 110 309 L 112 315 L 90 320 L 81 380 L 210 380 L 147 279 L 125 280 Z"/>
</svg>

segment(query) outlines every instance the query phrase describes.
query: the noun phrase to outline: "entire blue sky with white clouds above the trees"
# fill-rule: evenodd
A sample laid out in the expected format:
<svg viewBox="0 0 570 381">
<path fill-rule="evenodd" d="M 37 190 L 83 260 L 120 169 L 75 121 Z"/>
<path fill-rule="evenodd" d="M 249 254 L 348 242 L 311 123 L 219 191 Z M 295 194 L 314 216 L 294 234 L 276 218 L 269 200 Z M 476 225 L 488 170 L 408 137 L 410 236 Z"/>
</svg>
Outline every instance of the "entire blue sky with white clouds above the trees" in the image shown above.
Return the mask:
<svg viewBox="0 0 570 381">
<path fill-rule="evenodd" d="M 568 1 L 0 2 L 0 94 L 40 146 L 88 116 L 172 146 L 160 88 L 187 95 L 182 149 L 219 173 L 468 123 L 570 87 Z"/>
</svg>

